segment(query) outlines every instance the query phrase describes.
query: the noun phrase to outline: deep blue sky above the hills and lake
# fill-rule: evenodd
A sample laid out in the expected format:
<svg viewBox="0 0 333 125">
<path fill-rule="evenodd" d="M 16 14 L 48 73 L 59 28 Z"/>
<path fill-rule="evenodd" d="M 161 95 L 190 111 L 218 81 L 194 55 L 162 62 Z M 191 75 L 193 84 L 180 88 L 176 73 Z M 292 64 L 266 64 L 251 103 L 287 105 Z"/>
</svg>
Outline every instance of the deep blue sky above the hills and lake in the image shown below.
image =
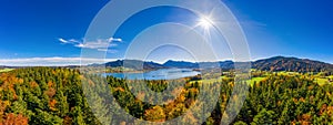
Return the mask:
<svg viewBox="0 0 333 125">
<path fill-rule="evenodd" d="M 161 33 L 168 31 L 171 33 L 174 30 L 173 27 L 151 27 L 153 24 L 198 23 L 198 17 L 188 10 L 171 7 L 154 8 L 128 19 L 114 37 L 87 40 L 83 43 L 90 23 L 108 2 L 110 0 L 1 0 L 0 65 L 69 65 L 80 64 L 80 60 L 87 60 L 89 63 L 104 61 L 80 59 L 81 49 L 105 52 L 105 61 L 112 61 L 122 59 L 133 43 L 149 44 L 157 41 L 153 39 L 154 35 L 162 35 Z M 252 60 L 284 55 L 333 63 L 333 1 L 223 0 L 222 2 L 240 22 L 248 39 Z M 161 33 L 154 34 L 157 32 Z M 193 34 L 195 33 L 169 39 L 189 41 Z M 213 40 L 223 41 L 221 38 Z M 105 49 L 108 44 L 109 48 Z M 221 43 L 215 48 L 220 49 L 219 60 L 232 58 L 228 44 Z M 162 63 L 170 59 L 191 61 L 193 59 L 191 54 L 185 52 L 184 48 L 164 45 L 151 51 L 145 58 Z M 204 58 L 201 58 L 202 60 Z"/>
</svg>

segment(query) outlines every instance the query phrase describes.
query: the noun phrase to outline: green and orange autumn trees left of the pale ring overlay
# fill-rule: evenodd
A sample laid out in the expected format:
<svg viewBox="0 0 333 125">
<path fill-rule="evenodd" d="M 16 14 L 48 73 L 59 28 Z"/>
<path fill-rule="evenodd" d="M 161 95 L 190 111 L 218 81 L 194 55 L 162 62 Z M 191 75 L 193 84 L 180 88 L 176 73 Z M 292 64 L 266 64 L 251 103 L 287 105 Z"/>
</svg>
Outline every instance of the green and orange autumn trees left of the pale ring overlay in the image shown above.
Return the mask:
<svg viewBox="0 0 333 125">
<path fill-rule="evenodd" d="M 29 67 L 0 74 L 3 125 L 99 124 L 81 87 L 78 71 Z"/>
</svg>

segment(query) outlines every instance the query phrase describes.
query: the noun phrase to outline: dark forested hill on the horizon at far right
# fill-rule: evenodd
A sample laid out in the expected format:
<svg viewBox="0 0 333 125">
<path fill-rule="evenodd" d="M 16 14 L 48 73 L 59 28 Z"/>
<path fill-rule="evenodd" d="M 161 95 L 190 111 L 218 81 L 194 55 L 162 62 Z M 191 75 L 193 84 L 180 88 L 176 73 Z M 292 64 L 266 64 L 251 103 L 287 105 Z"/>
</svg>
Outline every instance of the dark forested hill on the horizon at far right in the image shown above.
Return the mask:
<svg viewBox="0 0 333 125">
<path fill-rule="evenodd" d="M 252 69 L 262 71 L 321 72 L 333 71 L 333 65 L 309 59 L 274 56 L 253 62 Z"/>
</svg>

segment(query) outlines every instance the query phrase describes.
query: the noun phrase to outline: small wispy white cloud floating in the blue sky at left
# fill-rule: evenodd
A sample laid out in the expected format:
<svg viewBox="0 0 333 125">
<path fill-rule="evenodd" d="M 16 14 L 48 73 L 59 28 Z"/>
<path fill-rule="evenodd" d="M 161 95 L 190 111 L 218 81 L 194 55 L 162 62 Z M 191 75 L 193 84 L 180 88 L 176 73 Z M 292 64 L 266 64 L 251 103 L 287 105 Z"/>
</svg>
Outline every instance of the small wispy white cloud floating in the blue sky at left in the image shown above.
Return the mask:
<svg viewBox="0 0 333 125">
<path fill-rule="evenodd" d="M 123 42 L 122 39 L 119 38 L 98 39 L 95 41 L 85 41 L 85 42 L 75 39 L 65 40 L 62 38 L 58 40 L 61 43 L 73 44 L 77 48 L 93 49 L 93 50 L 105 51 L 105 52 L 109 52 L 110 46 L 117 46 L 118 44 L 115 42 Z M 110 52 L 114 52 L 114 50 L 111 50 Z"/>
</svg>

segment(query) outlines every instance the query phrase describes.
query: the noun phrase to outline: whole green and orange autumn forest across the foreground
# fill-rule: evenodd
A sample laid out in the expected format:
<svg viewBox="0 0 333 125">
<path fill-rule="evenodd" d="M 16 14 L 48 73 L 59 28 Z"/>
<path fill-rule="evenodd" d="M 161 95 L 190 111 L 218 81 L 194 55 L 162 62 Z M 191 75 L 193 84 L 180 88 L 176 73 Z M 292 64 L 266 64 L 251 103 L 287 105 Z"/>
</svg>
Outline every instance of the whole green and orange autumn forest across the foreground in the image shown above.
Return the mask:
<svg viewBox="0 0 333 125">
<path fill-rule="evenodd" d="M 171 121 L 186 113 L 176 124 L 220 125 L 224 122 L 222 117 L 235 125 L 333 124 L 331 83 L 319 84 L 311 73 L 253 71 L 252 76 L 262 79 L 249 85 L 244 104 L 232 118 L 226 104 L 230 98 L 241 97 L 232 91 L 236 84 L 248 84 L 235 83 L 232 74 L 223 74 L 216 81 L 128 81 L 67 67 L 17 69 L 0 73 L 0 125 L 143 124 Z M 144 101 L 160 101 L 152 98 L 159 95 L 133 93 L 139 84 L 153 92 L 172 86 L 172 93 L 178 94 L 161 98 L 168 103 L 150 104 Z M 198 102 L 199 95 L 208 88 L 212 90 L 204 95 L 208 101 L 219 95 L 215 106 L 209 114 L 195 113 L 200 112 L 195 105 L 202 104 Z M 213 93 L 214 90 L 220 92 Z M 120 117 L 121 111 L 135 118 Z M 202 117 L 208 117 L 204 123 L 200 123 Z"/>
</svg>

